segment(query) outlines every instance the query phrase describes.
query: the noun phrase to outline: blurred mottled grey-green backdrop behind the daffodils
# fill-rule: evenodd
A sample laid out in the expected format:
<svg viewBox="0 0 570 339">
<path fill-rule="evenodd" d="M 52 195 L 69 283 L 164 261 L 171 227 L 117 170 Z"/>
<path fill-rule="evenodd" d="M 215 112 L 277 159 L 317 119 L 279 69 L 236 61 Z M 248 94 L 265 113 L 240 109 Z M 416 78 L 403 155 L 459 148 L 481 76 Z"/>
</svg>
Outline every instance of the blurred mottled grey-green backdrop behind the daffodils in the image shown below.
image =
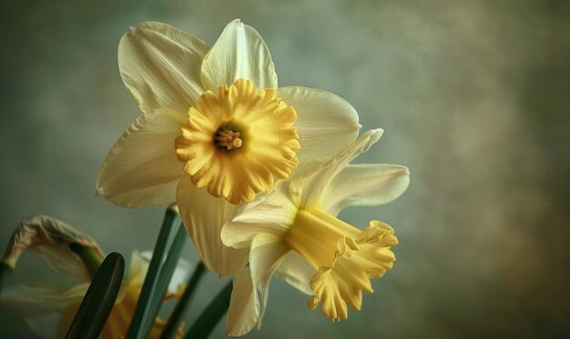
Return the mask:
<svg viewBox="0 0 570 339">
<path fill-rule="evenodd" d="M 138 115 L 118 41 L 147 20 L 213 44 L 241 18 L 270 46 L 280 85 L 351 102 L 381 142 L 361 162 L 408 165 L 396 202 L 351 208 L 400 239 L 361 312 L 331 324 L 274 280 L 251 338 L 570 337 L 570 3 L 561 1 L 8 1 L 0 8 L 0 247 L 51 214 L 128 257 L 162 208 L 95 196 L 111 145 Z M 190 249 L 185 254 L 195 262 Z M 57 279 L 26 254 L 11 284 Z M 223 282 L 199 286 L 188 322 Z M 0 310 L 0 336 L 26 337 Z M 225 337 L 219 325 L 213 337 Z"/>
</svg>

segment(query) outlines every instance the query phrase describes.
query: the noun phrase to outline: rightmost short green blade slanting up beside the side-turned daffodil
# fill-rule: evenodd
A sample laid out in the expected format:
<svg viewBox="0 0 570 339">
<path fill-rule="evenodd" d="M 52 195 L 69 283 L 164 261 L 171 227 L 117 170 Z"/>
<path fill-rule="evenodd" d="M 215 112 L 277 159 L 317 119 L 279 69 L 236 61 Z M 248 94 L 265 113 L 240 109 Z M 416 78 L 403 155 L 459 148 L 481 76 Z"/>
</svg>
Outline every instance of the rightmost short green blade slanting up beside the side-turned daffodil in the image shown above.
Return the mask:
<svg viewBox="0 0 570 339">
<path fill-rule="evenodd" d="M 231 298 L 231 291 L 233 290 L 233 283 L 224 287 L 223 290 L 216 295 L 216 298 L 209 303 L 208 307 L 198 316 L 198 319 L 192 324 L 188 330 L 185 339 L 204 339 L 208 338 L 209 334 L 214 330 L 226 312 L 228 312 L 229 299 Z"/>
</svg>

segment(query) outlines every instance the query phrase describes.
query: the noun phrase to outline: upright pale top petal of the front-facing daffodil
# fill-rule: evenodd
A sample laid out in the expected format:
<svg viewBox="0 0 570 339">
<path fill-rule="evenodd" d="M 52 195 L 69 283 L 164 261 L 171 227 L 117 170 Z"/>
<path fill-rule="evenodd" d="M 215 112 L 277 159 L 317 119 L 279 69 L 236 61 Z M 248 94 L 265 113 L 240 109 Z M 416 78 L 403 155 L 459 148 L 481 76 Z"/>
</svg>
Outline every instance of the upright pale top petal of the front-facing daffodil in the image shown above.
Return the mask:
<svg viewBox="0 0 570 339">
<path fill-rule="evenodd" d="M 270 50 L 260 34 L 239 20 L 229 23 L 202 62 L 202 83 L 216 91 L 238 79 L 251 80 L 257 88 L 277 88 Z"/>
</svg>

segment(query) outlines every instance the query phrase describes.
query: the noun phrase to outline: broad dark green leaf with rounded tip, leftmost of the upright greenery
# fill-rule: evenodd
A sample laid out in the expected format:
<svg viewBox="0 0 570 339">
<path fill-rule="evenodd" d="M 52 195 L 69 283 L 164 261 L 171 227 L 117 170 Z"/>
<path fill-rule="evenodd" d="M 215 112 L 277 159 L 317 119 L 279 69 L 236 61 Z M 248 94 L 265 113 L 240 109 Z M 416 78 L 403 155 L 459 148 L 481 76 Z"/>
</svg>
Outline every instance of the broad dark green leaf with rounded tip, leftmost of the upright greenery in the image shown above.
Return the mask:
<svg viewBox="0 0 570 339">
<path fill-rule="evenodd" d="M 87 294 L 79 305 L 66 338 L 97 338 L 113 309 L 125 272 L 121 254 L 108 254 L 93 277 Z"/>
</svg>

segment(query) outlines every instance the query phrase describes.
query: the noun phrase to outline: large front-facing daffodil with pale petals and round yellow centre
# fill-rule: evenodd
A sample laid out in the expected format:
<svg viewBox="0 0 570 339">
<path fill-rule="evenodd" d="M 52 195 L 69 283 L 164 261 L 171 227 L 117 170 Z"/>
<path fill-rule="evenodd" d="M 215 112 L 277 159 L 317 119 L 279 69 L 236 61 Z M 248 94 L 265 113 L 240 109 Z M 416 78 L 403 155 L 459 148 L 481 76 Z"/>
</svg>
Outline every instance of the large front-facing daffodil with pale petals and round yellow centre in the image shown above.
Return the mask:
<svg viewBox="0 0 570 339">
<path fill-rule="evenodd" d="M 144 23 L 121 39 L 118 65 L 143 115 L 107 155 L 97 194 L 127 207 L 177 203 L 198 253 L 220 276 L 248 262 L 247 250 L 219 240 L 239 205 L 331 160 L 360 128 L 336 95 L 278 88 L 267 45 L 239 20 L 211 47 Z"/>
</svg>

